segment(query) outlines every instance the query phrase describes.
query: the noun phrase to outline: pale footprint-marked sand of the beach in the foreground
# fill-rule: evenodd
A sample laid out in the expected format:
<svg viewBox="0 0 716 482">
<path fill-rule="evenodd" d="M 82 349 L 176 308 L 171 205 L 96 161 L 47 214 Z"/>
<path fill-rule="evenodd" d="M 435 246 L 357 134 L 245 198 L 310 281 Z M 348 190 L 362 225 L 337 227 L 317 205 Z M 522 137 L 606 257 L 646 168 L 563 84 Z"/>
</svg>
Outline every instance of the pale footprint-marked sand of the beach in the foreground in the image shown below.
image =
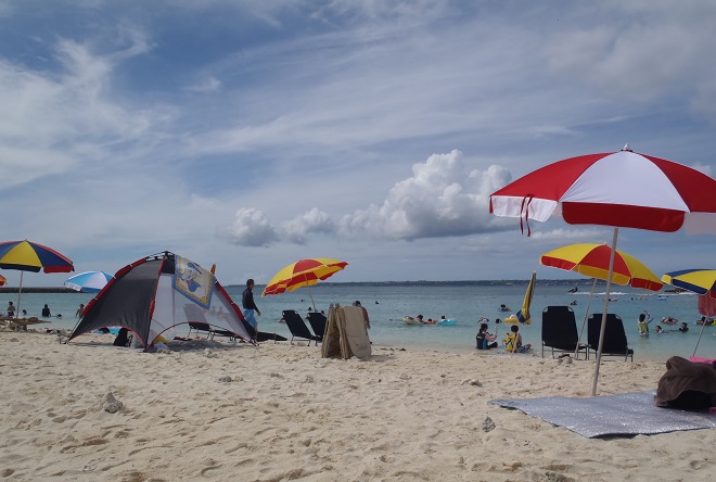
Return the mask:
<svg viewBox="0 0 716 482">
<path fill-rule="evenodd" d="M 398 347 L 340 360 L 287 343 L 145 354 L 111 346 L 111 335 L 78 342 L 0 332 L 2 480 L 714 480 L 716 430 L 592 440 L 488 404 L 588 396 L 593 362 Z M 664 371 L 609 360 L 600 394 L 655 389 Z M 118 411 L 104 409 L 107 393 Z"/>
</svg>

